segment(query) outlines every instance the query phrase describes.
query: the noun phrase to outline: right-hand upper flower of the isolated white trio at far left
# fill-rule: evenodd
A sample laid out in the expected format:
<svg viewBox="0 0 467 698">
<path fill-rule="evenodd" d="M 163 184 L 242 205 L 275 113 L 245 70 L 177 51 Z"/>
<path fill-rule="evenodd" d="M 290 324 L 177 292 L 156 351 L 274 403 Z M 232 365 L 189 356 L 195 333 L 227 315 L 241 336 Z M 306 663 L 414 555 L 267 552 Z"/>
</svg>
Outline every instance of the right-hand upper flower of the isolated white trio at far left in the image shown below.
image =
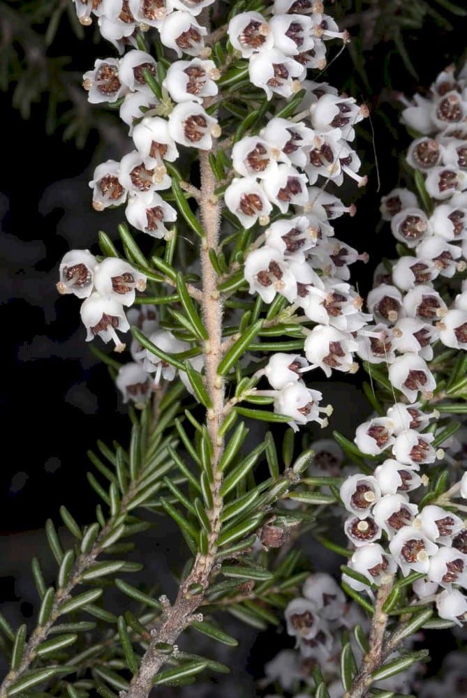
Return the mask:
<svg viewBox="0 0 467 698">
<path fill-rule="evenodd" d="M 144 291 L 146 281 L 144 274 L 117 257 L 106 258 L 94 271 L 96 291 L 126 306 L 133 305 L 135 290 Z"/>
</svg>

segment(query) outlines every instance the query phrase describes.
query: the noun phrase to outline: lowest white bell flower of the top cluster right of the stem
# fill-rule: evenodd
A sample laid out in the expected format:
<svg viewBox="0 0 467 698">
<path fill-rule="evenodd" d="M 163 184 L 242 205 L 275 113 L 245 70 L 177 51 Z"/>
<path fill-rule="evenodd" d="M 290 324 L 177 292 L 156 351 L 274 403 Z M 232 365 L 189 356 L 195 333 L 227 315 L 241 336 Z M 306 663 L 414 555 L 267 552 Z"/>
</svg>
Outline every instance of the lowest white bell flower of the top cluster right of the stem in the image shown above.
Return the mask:
<svg viewBox="0 0 467 698">
<path fill-rule="evenodd" d="M 256 53 L 249 61 L 250 80 L 256 87 L 264 89 L 268 99 L 274 92 L 282 97 L 292 96 L 294 91 L 298 91 L 295 80 L 301 80 L 305 74 L 304 66 L 276 48 Z"/>
</svg>

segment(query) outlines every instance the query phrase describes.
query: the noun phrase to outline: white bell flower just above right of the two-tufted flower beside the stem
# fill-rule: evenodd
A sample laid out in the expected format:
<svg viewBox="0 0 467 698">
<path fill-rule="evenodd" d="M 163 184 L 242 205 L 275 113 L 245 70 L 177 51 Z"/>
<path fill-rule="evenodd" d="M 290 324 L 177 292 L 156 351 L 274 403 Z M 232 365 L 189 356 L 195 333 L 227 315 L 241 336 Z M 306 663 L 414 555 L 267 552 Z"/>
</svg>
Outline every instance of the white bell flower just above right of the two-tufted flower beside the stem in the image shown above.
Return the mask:
<svg viewBox="0 0 467 698">
<path fill-rule="evenodd" d="M 274 221 L 265 230 L 266 244 L 277 250 L 285 259 L 302 263 L 305 253 L 316 246 L 315 230 L 306 216 L 283 218 Z"/>
</svg>

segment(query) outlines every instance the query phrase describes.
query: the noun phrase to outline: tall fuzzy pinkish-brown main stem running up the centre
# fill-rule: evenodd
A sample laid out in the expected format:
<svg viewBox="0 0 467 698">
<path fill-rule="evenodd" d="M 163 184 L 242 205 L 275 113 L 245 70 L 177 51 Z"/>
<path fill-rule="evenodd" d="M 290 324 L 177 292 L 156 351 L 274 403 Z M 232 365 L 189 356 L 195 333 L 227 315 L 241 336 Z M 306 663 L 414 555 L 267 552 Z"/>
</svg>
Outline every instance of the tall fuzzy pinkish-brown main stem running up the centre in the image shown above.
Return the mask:
<svg viewBox="0 0 467 698">
<path fill-rule="evenodd" d="M 223 452 L 223 440 L 219 437 L 219 428 L 223 422 L 223 405 L 225 399 L 224 382 L 217 374 L 218 365 L 223 355 L 222 351 L 222 327 L 223 305 L 217 290 L 217 276 L 209 260 L 209 249 L 218 249 L 218 235 L 221 223 L 221 207 L 214 195 L 216 178 L 209 165 L 207 152 L 200 153 L 200 216 L 205 231 L 200 249 L 202 267 L 202 299 L 200 302 L 202 316 L 209 339 L 205 342 L 203 354 L 205 357 L 205 382 L 206 389 L 212 401 L 212 408 L 207 413 L 207 430 L 212 443 L 212 498 L 214 506 L 207 511 L 210 523 L 208 536 L 208 549 L 205 555 L 198 553 L 188 577 L 179 587 L 177 598 L 172 606 L 165 610 L 163 622 L 152 633 L 151 643 L 144 654 L 138 674 L 133 676 L 128 698 L 147 698 L 151 691 L 154 676 L 161 669 L 167 655 L 159 652 L 157 645 L 161 642 L 173 645 L 179 634 L 197 616 L 193 616 L 204 598 L 204 591 L 209 586 L 214 563 L 216 561 L 216 542 L 220 529 L 220 514 L 222 511 L 222 499 L 219 496 L 222 477 L 218 472 L 218 462 Z M 196 589 L 191 593 L 193 585 L 200 585 L 202 591 Z"/>
</svg>

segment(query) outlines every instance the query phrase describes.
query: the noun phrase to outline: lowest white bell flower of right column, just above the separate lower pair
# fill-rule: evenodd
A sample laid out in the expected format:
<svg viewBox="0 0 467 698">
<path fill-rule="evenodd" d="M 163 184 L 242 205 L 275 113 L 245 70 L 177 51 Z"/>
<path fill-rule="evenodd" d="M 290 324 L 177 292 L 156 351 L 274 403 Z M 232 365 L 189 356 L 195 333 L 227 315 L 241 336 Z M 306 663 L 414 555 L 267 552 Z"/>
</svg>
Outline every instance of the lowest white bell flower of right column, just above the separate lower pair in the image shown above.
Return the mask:
<svg viewBox="0 0 467 698">
<path fill-rule="evenodd" d="M 336 327 L 316 325 L 305 339 L 305 355 L 313 368 L 319 366 L 327 378 L 332 369 L 343 373 L 355 373 L 358 365 L 353 360 L 353 352 L 358 344 L 351 334 L 341 332 Z"/>
</svg>

